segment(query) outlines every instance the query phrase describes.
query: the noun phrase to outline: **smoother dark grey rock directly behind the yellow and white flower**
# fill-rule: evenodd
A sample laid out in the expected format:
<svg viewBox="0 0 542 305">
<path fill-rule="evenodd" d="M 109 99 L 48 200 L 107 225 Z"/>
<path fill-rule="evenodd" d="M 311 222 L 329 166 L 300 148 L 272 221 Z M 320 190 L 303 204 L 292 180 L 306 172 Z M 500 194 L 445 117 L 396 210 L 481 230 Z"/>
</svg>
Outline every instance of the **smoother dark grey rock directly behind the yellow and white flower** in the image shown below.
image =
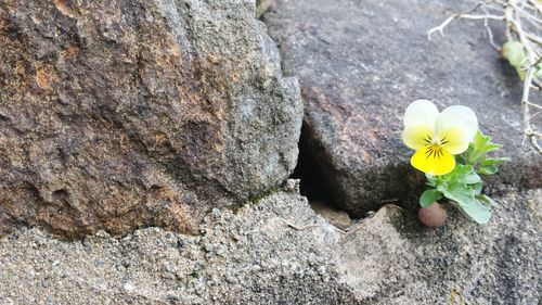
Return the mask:
<svg viewBox="0 0 542 305">
<path fill-rule="evenodd" d="M 488 42 L 483 23 L 459 21 L 447 37 L 427 39 L 428 29 L 473 4 L 279 0 L 263 15 L 284 72 L 299 77 L 308 139 L 301 155 L 314 155 L 341 208 L 361 216 L 423 182 L 400 137 L 402 114 L 416 99 L 434 100 L 441 110 L 473 107 L 482 131 L 513 157 L 499 179 L 521 188 L 542 185 L 542 160 L 521 142 L 520 81 Z M 502 37 L 498 27 L 494 34 Z"/>
</svg>

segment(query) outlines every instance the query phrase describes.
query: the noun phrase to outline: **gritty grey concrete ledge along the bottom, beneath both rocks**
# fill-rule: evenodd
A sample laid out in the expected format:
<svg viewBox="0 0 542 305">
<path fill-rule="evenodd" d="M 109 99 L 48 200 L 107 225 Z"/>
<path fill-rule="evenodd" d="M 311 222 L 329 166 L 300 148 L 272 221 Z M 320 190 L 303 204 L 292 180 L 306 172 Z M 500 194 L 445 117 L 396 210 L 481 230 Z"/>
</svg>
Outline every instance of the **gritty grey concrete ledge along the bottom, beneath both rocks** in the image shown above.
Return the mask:
<svg viewBox="0 0 542 305">
<path fill-rule="evenodd" d="M 214 209 L 201 237 L 23 229 L 0 239 L 0 303 L 539 304 L 541 198 L 511 188 L 489 225 L 438 229 L 387 205 L 341 234 L 292 189 Z"/>
</svg>

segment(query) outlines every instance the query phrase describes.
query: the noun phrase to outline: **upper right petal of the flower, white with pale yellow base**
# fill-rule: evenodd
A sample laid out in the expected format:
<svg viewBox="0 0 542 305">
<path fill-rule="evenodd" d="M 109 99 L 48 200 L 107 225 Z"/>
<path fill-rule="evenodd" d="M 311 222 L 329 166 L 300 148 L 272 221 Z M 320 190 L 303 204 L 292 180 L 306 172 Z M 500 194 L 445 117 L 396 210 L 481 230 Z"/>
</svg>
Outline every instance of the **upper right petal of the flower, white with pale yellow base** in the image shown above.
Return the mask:
<svg viewBox="0 0 542 305">
<path fill-rule="evenodd" d="M 468 148 L 478 130 L 478 119 L 467 106 L 454 105 L 443 110 L 437 118 L 436 134 L 452 154 L 460 154 Z M 450 137 L 450 139 L 447 138 Z M 453 138 L 453 143 L 451 141 Z"/>
</svg>

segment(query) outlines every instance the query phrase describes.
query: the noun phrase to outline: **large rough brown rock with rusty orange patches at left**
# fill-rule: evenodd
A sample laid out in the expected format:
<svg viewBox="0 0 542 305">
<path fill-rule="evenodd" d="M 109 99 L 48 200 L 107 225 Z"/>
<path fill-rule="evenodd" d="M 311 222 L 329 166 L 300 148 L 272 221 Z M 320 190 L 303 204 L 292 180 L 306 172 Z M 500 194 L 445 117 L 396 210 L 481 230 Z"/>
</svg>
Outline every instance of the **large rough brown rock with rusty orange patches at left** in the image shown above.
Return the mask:
<svg viewBox="0 0 542 305">
<path fill-rule="evenodd" d="M 0 1 L 0 233 L 183 232 L 293 170 L 302 119 L 254 1 Z"/>
</svg>

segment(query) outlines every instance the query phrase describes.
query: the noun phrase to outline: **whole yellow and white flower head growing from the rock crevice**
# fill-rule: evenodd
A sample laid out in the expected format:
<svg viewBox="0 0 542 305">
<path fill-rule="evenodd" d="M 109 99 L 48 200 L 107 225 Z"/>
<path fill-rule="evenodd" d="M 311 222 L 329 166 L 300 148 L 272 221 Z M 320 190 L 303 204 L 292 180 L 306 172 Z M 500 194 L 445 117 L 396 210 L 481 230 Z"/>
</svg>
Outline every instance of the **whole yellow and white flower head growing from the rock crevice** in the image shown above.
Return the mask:
<svg viewBox="0 0 542 305">
<path fill-rule="evenodd" d="M 467 106 L 439 112 L 427 100 L 412 102 L 404 112 L 403 142 L 416 152 L 411 164 L 429 175 L 446 175 L 455 167 L 453 155 L 468 149 L 478 130 L 478 119 Z"/>
</svg>

